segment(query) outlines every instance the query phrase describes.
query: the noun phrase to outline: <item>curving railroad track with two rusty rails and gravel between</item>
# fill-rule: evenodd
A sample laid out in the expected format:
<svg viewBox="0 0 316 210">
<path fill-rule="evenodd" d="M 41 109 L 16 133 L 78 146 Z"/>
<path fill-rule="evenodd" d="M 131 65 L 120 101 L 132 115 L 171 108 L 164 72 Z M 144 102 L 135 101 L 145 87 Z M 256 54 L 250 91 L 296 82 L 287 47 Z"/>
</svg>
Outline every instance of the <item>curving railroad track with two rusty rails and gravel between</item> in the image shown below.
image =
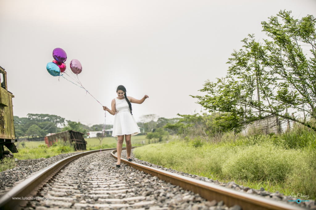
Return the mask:
<svg viewBox="0 0 316 210">
<path fill-rule="evenodd" d="M 121 167 L 116 168 L 115 152 L 113 149 L 88 151 L 60 160 L 13 187 L 0 198 L 0 208 L 305 209 L 129 162 L 124 158 L 121 159 Z M 30 196 L 40 199 L 13 200 L 13 197 Z"/>
</svg>

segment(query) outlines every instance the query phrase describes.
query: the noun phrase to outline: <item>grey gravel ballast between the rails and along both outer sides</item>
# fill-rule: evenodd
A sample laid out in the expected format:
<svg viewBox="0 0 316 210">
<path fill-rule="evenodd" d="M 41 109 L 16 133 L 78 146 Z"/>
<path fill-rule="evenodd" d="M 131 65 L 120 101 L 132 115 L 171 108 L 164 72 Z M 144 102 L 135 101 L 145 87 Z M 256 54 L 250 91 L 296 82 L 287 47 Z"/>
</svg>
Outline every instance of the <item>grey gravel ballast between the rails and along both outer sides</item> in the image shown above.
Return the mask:
<svg viewBox="0 0 316 210">
<path fill-rule="evenodd" d="M 30 175 L 35 174 L 41 169 L 62 160 L 68 156 L 77 154 L 61 154 L 51 158 L 40 158 L 34 160 L 18 160 L 16 161 L 17 167 L 9 169 L 4 172 L 0 172 L 0 189 L 1 194 L 10 190 L 15 184 L 18 184 Z M 126 158 L 126 150 L 122 151 L 122 157 Z M 133 157 L 133 154 L 132 154 Z M 213 180 L 205 177 L 199 177 L 184 172 L 178 172 L 171 168 L 164 168 L 157 166 L 149 162 L 139 160 L 133 157 L 133 161 L 155 167 L 168 172 L 176 173 L 186 177 L 198 179 L 211 184 L 218 184 L 224 187 L 228 187 L 240 192 L 254 194 L 258 196 L 264 196 L 268 199 L 274 199 L 281 202 L 289 200 L 296 200 L 295 198 L 285 196 L 279 192 L 271 193 L 265 191 L 263 188 L 250 189 L 238 185 L 234 182 L 223 183 L 218 180 Z M 49 207 L 59 209 L 220 209 L 220 210 L 237 210 L 241 209 L 239 206 L 228 208 L 222 201 L 206 201 L 191 191 L 183 190 L 179 186 L 175 186 L 170 183 L 165 183 L 157 177 L 152 177 L 149 174 L 136 171 L 122 163 L 120 168 L 116 168 L 116 159 L 110 155 L 110 151 L 104 151 L 102 153 L 97 152 L 94 154 L 86 155 L 82 158 L 76 159 L 69 164 L 70 169 L 65 167 L 57 173 L 56 178 L 58 180 L 52 180 L 43 190 L 40 192 L 42 197 L 63 196 L 68 197 L 66 201 L 32 201 L 29 209 L 46 209 Z M 67 171 L 68 170 L 68 171 Z M 113 178 L 114 177 L 114 178 Z M 60 181 L 64 183 L 59 183 Z M 112 182 L 111 182 L 112 180 Z M 119 180 L 119 181 L 117 181 Z M 70 183 L 73 182 L 73 183 Z M 102 184 L 109 182 L 107 184 Z M 55 184 L 52 184 L 55 183 Z M 58 184 L 59 183 L 59 184 Z M 97 184 L 95 186 L 95 184 Z M 52 187 L 54 185 L 54 187 Z M 66 190 L 58 191 L 56 185 L 63 186 L 65 189 L 70 189 L 67 193 Z M 103 186 L 104 185 L 104 186 Z M 76 187 L 76 189 L 74 188 Z M 113 190 L 116 188 L 126 189 L 126 193 L 119 193 Z M 71 189 L 74 192 L 71 192 Z M 98 189 L 100 192 L 95 192 Z M 54 194 L 54 191 L 59 194 Z M 118 190 L 118 189 L 116 189 Z M 65 193 L 66 192 L 66 193 Z M 76 195 L 75 195 L 76 194 Z M 113 197 L 114 196 L 114 197 Z M 132 198 L 130 198 L 132 197 Z M 136 197 L 135 200 L 134 197 Z M 103 200 L 102 200 L 103 199 Z M 108 199 L 108 200 L 106 200 Z M 114 200 L 111 200 L 114 199 Z M 116 199 L 116 200 L 115 200 Z M 119 199 L 119 200 L 118 200 Z M 131 199 L 131 200 L 129 200 Z M 137 200 L 138 199 L 138 200 Z M 150 201 L 147 202 L 146 201 Z M 65 203 L 68 202 L 68 203 Z M 69 204 L 69 202 L 71 204 Z M 134 202 L 134 203 L 133 203 Z M 145 202 L 144 204 L 142 202 Z M 106 203 L 107 205 L 103 205 Z M 114 204 L 120 204 L 115 207 Z M 129 205 L 125 205 L 125 204 Z M 135 204 L 137 203 L 137 204 Z M 296 204 L 295 202 L 287 202 L 293 205 L 299 205 L 301 207 L 308 207 L 309 209 L 316 209 L 315 201 L 309 200 L 308 202 L 301 202 Z M 60 205 L 59 205 L 60 204 Z M 98 204 L 98 205 L 94 205 Z M 110 204 L 110 205 L 109 205 Z M 124 205 L 123 205 L 124 204 Z M 135 204 L 135 205 L 133 205 Z M 137 206 L 138 205 L 138 206 Z"/>
</svg>

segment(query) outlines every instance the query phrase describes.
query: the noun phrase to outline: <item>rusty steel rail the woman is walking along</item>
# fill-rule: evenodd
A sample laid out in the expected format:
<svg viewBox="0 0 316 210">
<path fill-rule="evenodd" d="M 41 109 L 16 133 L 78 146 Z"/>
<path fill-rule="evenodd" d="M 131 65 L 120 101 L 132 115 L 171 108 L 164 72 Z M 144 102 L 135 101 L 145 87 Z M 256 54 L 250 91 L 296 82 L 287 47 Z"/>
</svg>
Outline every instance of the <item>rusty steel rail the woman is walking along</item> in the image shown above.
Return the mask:
<svg viewBox="0 0 316 210">
<path fill-rule="evenodd" d="M 114 154 L 117 150 L 111 152 L 112 156 L 117 159 Z M 282 203 L 270 199 L 266 199 L 260 196 L 251 195 L 237 190 L 229 189 L 216 184 L 210 184 L 197 179 L 181 176 L 175 173 L 167 172 L 154 167 L 145 166 L 143 164 L 130 162 L 124 158 L 121 158 L 121 162 L 131 166 L 139 171 L 149 173 L 152 176 L 156 176 L 161 180 L 165 180 L 174 185 L 178 185 L 185 190 L 191 190 L 194 193 L 198 193 L 208 201 L 224 201 L 226 206 L 231 207 L 239 205 L 243 210 L 303 210 L 306 208 L 293 206 L 287 203 Z"/>
</svg>

